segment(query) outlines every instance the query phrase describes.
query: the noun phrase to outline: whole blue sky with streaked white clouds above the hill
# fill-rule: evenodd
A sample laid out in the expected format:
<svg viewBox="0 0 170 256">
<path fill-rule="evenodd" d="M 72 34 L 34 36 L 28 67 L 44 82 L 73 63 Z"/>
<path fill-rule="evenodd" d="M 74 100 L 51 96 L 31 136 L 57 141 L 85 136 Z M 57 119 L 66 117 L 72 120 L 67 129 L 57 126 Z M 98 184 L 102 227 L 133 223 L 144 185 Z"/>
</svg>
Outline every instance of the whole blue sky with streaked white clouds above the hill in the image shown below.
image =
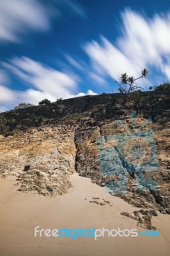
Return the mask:
<svg viewBox="0 0 170 256">
<path fill-rule="evenodd" d="M 162 1 L 0 1 L 0 112 L 170 80 L 170 5 Z"/>
</svg>

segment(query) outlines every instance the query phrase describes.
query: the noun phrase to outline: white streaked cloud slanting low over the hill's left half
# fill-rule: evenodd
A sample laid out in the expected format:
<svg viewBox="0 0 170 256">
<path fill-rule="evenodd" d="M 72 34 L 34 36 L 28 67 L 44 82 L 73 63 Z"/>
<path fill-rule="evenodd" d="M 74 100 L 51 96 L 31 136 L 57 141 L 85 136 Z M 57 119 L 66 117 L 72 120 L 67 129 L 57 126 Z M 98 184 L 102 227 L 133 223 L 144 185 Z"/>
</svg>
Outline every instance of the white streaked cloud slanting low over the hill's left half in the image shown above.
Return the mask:
<svg viewBox="0 0 170 256">
<path fill-rule="evenodd" d="M 74 91 L 77 81 L 67 74 L 47 67 L 30 58 L 13 58 L 10 65 L 4 63 L 4 67 L 9 67 L 12 72 L 24 80 L 29 86 L 34 86 L 41 92 L 50 93 L 53 97 L 66 97 L 65 93 Z M 77 78 L 78 79 L 78 78 Z"/>
</svg>

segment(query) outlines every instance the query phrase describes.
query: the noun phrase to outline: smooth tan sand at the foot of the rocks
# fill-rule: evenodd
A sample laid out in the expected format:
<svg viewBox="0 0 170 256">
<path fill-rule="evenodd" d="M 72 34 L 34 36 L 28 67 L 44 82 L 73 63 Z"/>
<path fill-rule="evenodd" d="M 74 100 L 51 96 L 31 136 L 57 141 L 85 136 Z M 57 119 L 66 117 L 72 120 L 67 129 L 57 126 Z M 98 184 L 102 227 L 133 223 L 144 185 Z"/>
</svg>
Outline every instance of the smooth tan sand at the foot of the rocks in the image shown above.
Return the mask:
<svg viewBox="0 0 170 256">
<path fill-rule="evenodd" d="M 122 211 L 135 211 L 120 198 L 89 179 L 71 176 L 73 188 L 63 196 L 45 197 L 17 191 L 14 177 L 0 179 L 0 255 L 1 256 L 167 256 L 170 251 L 170 216 L 158 214 L 153 225 L 160 237 L 35 237 L 40 228 L 118 228 L 137 227 L 136 221 L 121 216 Z M 110 204 L 90 203 L 92 197 L 109 200 Z M 86 200 L 85 200 L 86 198 Z M 109 206 L 109 205 L 112 205 Z M 139 231 L 144 231 L 138 228 Z"/>
</svg>

